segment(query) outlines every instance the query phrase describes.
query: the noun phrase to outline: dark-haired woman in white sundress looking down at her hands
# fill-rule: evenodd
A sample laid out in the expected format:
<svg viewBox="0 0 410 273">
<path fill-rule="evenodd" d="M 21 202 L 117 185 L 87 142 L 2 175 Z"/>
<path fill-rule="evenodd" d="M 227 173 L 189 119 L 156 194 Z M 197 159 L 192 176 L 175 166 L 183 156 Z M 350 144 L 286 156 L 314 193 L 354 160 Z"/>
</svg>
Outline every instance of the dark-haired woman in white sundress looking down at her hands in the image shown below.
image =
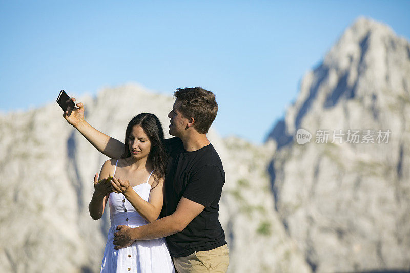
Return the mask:
<svg viewBox="0 0 410 273">
<path fill-rule="evenodd" d="M 163 131 L 158 118 L 142 113 L 131 119 L 125 135 L 122 159 L 107 160 L 89 205 L 94 220 L 110 205 L 111 228 L 104 250 L 101 272 L 174 272 L 164 238 L 135 241 L 131 246 L 114 249 L 118 225 L 138 227 L 158 219 L 163 203 L 163 175 L 166 167 Z"/>
</svg>

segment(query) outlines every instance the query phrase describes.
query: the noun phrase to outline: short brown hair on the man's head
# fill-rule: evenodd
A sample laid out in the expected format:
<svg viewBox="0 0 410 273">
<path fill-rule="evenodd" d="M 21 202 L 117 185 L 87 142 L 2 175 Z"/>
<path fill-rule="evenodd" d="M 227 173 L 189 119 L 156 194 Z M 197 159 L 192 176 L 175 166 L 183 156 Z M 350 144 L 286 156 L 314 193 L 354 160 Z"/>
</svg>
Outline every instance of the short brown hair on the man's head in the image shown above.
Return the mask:
<svg viewBox="0 0 410 273">
<path fill-rule="evenodd" d="M 195 119 L 196 131 L 200 134 L 208 133 L 218 113 L 215 94 L 202 87 L 186 87 L 175 90 L 174 97 L 181 102 L 178 111 L 183 117 Z"/>
</svg>

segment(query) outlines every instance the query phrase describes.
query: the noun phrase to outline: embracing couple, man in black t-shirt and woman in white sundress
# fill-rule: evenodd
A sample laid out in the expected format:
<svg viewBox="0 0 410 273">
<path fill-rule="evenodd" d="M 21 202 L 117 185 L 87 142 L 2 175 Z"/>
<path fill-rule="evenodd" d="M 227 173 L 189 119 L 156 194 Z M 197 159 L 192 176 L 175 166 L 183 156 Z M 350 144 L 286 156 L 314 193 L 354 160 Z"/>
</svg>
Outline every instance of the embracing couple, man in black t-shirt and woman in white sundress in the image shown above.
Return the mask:
<svg viewBox="0 0 410 273">
<path fill-rule="evenodd" d="M 95 175 L 89 205 L 94 220 L 107 202 L 110 206 L 101 272 L 227 271 L 228 248 L 218 220 L 225 173 L 206 137 L 218 104 L 200 87 L 177 89 L 174 97 L 168 114 L 174 137 L 165 140 L 154 114 L 130 121 L 125 144 L 88 124 L 83 103 L 70 116 L 64 114 L 96 149 L 113 158 L 101 168 L 100 181 Z"/>
</svg>

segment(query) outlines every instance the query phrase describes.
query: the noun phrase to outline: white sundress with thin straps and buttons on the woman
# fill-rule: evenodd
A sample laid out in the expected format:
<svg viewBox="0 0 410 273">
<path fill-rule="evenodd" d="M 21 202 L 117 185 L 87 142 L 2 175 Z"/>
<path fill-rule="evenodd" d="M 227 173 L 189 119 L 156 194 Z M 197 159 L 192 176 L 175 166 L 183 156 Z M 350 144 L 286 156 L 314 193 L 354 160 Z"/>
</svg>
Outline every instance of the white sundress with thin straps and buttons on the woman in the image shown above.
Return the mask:
<svg viewBox="0 0 410 273">
<path fill-rule="evenodd" d="M 117 163 L 115 164 L 114 175 Z M 151 191 L 151 186 L 148 184 L 151 174 L 144 184 L 133 187 L 134 191 L 147 202 Z M 148 222 L 135 211 L 135 208 L 123 194 L 110 193 L 108 201 L 111 228 L 108 231 L 100 272 L 175 272 L 165 238 L 135 241 L 129 247 L 114 249 L 114 233 L 117 231 L 118 225 L 138 227 L 146 225 Z"/>
</svg>

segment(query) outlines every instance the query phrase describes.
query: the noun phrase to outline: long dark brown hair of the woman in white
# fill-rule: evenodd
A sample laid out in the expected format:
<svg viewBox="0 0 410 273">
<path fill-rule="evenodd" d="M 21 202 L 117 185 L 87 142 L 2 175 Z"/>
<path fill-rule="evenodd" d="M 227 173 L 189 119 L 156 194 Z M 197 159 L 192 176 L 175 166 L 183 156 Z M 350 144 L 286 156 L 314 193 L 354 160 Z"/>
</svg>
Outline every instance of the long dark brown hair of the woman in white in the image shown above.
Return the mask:
<svg viewBox="0 0 410 273">
<path fill-rule="evenodd" d="M 131 119 L 128 123 L 127 130 L 125 132 L 125 145 L 122 158 L 131 156 L 131 152 L 128 146 L 128 138 L 130 137 L 131 130 L 135 125 L 139 125 L 144 129 L 145 134 L 148 136 L 151 142 L 151 151 L 148 155 L 148 159 L 152 163 L 156 181 L 165 175 L 165 167 L 167 163 L 167 154 L 165 152 L 165 146 L 163 143 L 163 129 L 161 122 L 156 115 L 151 113 L 141 113 Z"/>
</svg>

